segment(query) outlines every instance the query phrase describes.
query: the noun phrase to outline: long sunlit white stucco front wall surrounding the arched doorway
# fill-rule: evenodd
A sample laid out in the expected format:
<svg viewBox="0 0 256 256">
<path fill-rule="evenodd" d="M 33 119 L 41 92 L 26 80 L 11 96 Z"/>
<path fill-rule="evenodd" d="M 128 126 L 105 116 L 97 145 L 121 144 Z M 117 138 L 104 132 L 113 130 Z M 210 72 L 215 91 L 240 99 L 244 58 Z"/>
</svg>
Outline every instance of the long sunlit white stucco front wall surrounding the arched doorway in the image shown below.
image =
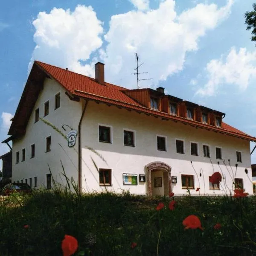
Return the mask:
<svg viewBox="0 0 256 256">
<path fill-rule="evenodd" d="M 112 143 L 99 142 L 98 125 L 111 126 Z M 131 129 L 135 131 L 136 147 L 123 145 L 123 130 Z M 157 134 L 167 137 L 167 151 L 157 151 Z M 196 129 L 190 125 L 176 123 L 172 121 L 162 121 L 160 118 L 146 116 L 118 109 L 114 106 L 108 107 L 105 104 L 96 104 L 89 102 L 82 122 L 82 186 L 85 192 L 101 191 L 104 186 L 99 186 L 99 173 L 95 168 L 90 157 L 93 158 L 98 168 L 112 170 L 112 186 L 107 189 L 116 192 L 122 192 L 122 189 L 128 189 L 134 194 L 146 194 L 147 184 L 123 185 L 122 174 L 131 173 L 147 175 L 145 166 L 153 161 L 161 161 L 172 168 L 172 176 L 177 176 L 177 184 L 172 184 L 172 192 L 176 195 L 186 195 L 186 189 L 181 188 L 181 175 L 194 175 L 195 189 L 200 187 L 201 194 L 213 195 L 213 190 L 209 189 L 209 176 L 213 172 L 221 172 L 217 161 L 220 161 L 220 167 L 226 177 L 225 182 L 221 182 L 221 189 L 216 190 L 215 194 L 223 195 L 225 193 L 225 184 L 232 188 L 232 170 L 236 170 L 236 150 L 241 151 L 242 163 L 237 163 L 237 178 L 242 178 L 244 189 L 252 194 L 253 187 L 250 182 L 251 162 L 250 145 L 246 140 L 224 134 L 207 131 L 205 129 Z M 185 141 L 185 154 L 176 153 L 176 139 Z M 198 156 L 192 156 L 190 153 L 190 143 L 198 143 Z M 209 145 L 211 159 L 203 156 L 203 144 Z M 89 146 L 98 151 L 106 160 L 106 163 L 92 151 L 86 149 Z M 215 156 L 215 147 L 222 148 L 222 158 L 217 160 Z M 228 163 L 230 159 L 230 166 Z M 212 161 L 212 163 L 210 162 Z M 192 163 L 191 163 L 192 161 Z M 195 168 L 195 170 L 192 168 Z M 248 169 L 248 176 L 244 169 Z M 231 173 L 231 177 L 227 172 Z M 200 177 L 200 171 L 202 176 Z M 250 180 L 249 180 L 250 179 Z M 205 182 L 204 182 L 205 180 Z M 152 180 L 152 188 L 154 187 Z M 191 189 L 192 195 L 198 195 L 195 189 Z M 228 192 L 228 191 L 227 191 Z"/>
</svg>

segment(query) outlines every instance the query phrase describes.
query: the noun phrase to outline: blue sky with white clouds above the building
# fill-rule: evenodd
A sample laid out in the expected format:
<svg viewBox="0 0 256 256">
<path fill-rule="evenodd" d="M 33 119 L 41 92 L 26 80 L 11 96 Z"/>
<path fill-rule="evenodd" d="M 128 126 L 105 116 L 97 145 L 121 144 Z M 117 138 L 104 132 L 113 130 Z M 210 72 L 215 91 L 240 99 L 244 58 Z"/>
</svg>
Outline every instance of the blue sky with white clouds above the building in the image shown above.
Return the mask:
<svg viewBox="0 0 256 256">
<path fill-rule="evenodd" d="M 244 24 L 254 0 L 9 0 L 0 8 L 0 141 L 34 60 L 166 93 L 226 113 L 256 137 L 256 47 Z M 251 148 L 255 143 L 251 143 Z M 0 144 L 0 155 L 9 151 Z M 256 151 L 252 154 L 256 163 Z M 0 161 L 0 169 L 1 169 Z"/>
</svg>

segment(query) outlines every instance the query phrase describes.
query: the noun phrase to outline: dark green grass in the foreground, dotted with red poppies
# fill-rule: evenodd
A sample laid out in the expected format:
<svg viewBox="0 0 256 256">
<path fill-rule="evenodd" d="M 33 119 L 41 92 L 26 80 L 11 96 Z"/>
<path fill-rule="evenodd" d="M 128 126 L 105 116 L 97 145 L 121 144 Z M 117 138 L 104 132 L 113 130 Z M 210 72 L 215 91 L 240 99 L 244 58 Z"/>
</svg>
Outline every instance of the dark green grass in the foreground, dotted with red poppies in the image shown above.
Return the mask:
<svg viewBox="0 0 256 256">
<path fill-rule="evenodd" d="M 55 189 L 14 194 L 0 202 L 0 255 L 62 255 L 65 234 L 76 237 L 74 255 L 256 255 L 256 200 L 250 198 L 147 198 L 102 192 L 76 195 Z M 159 202 L 165 208 L 157 211 Z M 204 232 L 184 230 L 197 215 Z M 222 225 L 220 230 L 213 227 Z M 29 225 L 29 228 L 24 228 Z M 131 248 L 131 243 L 137 246 Z"/>
</svg>

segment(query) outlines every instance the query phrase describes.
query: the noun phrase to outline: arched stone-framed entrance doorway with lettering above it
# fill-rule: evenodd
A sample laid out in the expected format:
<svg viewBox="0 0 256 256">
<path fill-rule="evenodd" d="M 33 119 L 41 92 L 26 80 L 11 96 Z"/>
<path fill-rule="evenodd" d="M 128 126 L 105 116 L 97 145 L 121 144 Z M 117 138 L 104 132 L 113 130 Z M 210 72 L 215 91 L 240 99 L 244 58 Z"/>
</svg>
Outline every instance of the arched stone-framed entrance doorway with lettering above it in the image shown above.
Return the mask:
<svg viewBox="0 0 256 256">
<path fill-rule="evenodd" d="M 172 168 L 163 162 L 151 162 L 146 167 L 148 195 L 169 195 L 172 192 Z"/>
</svg>

